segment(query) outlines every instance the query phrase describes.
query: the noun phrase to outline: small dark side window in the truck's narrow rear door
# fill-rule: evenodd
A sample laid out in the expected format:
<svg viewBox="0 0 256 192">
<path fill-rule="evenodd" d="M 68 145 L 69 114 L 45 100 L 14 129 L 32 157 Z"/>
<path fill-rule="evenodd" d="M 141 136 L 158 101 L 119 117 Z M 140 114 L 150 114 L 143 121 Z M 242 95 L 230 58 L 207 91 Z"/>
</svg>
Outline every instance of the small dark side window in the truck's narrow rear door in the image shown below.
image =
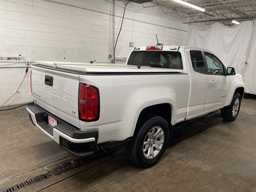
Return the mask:
<svg viewBox="0 0 256 192">
<path fill-rule="evenodd" d="M 205 73 L 204 58 L 202 52 L 198 50 L 191 50 L 190 57 L 194 71 Z"/>
</svg>

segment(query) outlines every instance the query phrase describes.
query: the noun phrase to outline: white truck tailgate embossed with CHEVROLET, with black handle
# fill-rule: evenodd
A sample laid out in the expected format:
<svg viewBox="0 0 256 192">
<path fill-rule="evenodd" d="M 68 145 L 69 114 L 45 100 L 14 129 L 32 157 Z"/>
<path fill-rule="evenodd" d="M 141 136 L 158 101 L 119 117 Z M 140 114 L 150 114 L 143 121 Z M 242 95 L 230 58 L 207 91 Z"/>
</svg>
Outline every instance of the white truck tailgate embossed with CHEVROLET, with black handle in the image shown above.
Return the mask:
<svg viewBox="0 0 256 192">
<path fill-rule="evenodd" d="M 78 118 L 79 74 L 32 66 L 34 102 L 80 128 Z"/>
</svg>

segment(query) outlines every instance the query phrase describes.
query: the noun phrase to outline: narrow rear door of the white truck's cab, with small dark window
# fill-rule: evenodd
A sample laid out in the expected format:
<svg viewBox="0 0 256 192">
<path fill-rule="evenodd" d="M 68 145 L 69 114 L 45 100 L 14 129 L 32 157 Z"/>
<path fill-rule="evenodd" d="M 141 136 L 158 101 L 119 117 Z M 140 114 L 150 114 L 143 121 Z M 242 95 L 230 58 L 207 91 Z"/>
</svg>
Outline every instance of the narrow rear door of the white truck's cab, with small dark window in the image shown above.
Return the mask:
<svg viewBox="0 0 256 192">
<path fill-rule="evenodd" d="M 207 95 L 208 78 L 201 50 L 185 49 L 188 71 L 190 71 L 190 93 L 186 117 L 201 114 Z"/>
</svg>

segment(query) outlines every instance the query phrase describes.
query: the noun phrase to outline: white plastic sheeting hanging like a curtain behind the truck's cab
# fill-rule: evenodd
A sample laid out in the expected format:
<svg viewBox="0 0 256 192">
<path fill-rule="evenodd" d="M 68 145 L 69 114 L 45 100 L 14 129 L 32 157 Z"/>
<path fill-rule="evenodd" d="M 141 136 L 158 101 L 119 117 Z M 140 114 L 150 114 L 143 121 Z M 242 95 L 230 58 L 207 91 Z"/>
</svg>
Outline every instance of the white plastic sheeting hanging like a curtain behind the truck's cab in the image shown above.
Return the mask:
<svg viewBox="0 0 256 192">
<path fill-rule="evenodd" d="M 254 24 L 255 23 L 255 24 Z M 210 50 L 223 64 L 242 74 L 245 92 L 256 94 L 256 22 L 228 27 L 214 23 L 207 28 L 190 25 L 187 46 Z"/>
</svg>

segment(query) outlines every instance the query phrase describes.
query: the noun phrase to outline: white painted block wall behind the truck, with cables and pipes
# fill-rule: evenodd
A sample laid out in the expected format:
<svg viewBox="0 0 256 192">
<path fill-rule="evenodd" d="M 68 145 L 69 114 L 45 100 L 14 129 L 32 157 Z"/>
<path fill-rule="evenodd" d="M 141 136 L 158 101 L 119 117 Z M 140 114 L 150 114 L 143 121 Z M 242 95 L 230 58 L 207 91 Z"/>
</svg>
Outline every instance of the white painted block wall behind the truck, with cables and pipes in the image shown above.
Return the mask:
<svg viewBox="0 0 256 192">
<path fill-rule="evenodd" d="M 53 2 L 54 1 L 54 2 Z M 115 30 L 120 28 L 123 2 L 115 4 Z M 79 8 L 78 8 L 79 7 Z M 112 8 L 111 8 L 112 13 Z M 184 45 L 187 25 L 176 14 L 163 14 L 160 7 L 142 9 L 130 3 L 116 48 L 116 57 L 127 57 L 134 46 L 156 44 Z M 0 0 L 0 56 L 23 56 L 26 60 L 110 62 L 112 55 L 113 17 L 106 0 Z M 0 105 L 22 81 L 22 68 L 0 62 Z M 6 105 L 31 100 L 29 73 L 20 94 Z"/>
</svg>

